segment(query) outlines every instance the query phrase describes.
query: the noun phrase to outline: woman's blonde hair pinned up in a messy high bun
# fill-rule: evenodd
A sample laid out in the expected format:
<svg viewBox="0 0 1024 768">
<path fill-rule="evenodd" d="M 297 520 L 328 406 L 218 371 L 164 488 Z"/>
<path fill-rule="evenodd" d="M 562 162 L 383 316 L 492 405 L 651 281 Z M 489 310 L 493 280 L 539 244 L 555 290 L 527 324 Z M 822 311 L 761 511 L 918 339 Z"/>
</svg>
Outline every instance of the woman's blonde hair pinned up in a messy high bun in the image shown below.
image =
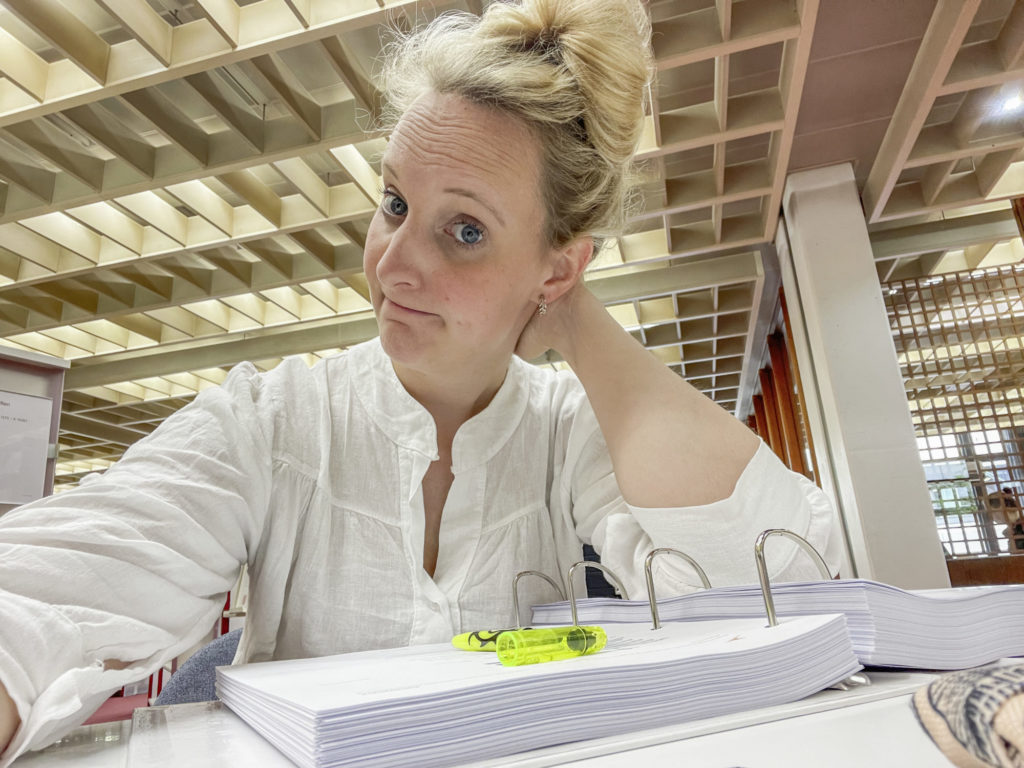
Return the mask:
<svg viewBox="0 0 1024 768">
<path fill-rule="evenodd" d="M 541 146 L 549 244 L 622 233 L 651 71 L 638 0 L 496 0 L 445 13 L 385 50 L 385 127 L 422 94 L 523 120 Z"/>
</svg>

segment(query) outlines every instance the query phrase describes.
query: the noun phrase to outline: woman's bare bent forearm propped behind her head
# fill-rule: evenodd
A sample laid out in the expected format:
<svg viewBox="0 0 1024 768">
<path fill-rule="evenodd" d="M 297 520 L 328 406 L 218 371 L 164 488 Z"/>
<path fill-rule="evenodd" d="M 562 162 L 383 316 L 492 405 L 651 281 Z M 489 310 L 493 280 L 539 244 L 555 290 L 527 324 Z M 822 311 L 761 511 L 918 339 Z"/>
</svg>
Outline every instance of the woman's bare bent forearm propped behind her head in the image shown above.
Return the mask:
<svg viewBox="0 0 1024 768">
<path fill-rule="evenodd" d="M 582 284 L 531 321 L 519 349 L 542 346 L 583 383 L 629 504 L 689 507 L 732 493 L 757 436 L 637 343 Z"/>
</svg>

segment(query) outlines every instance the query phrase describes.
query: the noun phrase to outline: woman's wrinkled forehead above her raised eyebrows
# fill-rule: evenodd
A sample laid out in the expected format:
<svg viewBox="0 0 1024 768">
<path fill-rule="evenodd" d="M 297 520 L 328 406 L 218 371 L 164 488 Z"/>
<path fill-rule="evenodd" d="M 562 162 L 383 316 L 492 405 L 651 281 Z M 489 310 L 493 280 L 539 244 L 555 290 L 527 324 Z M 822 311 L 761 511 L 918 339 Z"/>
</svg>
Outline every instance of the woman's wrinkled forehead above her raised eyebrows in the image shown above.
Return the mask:
<svg viewBox="0 0 1024 768">
<path fill-rule="evenodd" d="M 451 94 L 417 99 L 395 126 L 384 162 L 402 173 L 414 165 L 431 178 L 459 175 L 535 200 L 540 188 L 540 148 L 526 124 Z"/>
</svg>

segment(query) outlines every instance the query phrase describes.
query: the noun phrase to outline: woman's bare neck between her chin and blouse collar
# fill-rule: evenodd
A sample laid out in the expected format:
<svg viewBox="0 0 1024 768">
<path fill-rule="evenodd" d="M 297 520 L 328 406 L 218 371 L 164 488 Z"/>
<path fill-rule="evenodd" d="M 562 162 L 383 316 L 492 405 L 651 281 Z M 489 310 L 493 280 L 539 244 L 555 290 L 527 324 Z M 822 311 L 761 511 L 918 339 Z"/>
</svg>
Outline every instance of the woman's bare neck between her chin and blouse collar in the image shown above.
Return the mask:
<svg viewBox="0 0 1024 768">
<path fill-rule="evenodd" d="M 392 362 L 398 381 L 415 400 L 434 418 L 438 440 L 451 440 L 465 422 L 476 416 L 494 399 L 508 372 L 508 362 L 500 370 L 449 371 L 425 373 Z"/>
</svg>

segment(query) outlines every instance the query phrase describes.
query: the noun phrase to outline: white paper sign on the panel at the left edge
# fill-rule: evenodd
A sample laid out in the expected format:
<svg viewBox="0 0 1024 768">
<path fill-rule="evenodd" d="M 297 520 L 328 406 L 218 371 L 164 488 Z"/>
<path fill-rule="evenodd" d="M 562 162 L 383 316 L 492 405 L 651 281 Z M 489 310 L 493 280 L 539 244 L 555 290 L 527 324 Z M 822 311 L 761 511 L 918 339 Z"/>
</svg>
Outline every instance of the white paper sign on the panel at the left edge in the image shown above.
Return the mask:
<svg viewBox="0 0 1024 768">
<path fill-rule="evenodd" d="M 0 503 L 41 499 L 53 400 L 0 390 Z"/>
</svg>

